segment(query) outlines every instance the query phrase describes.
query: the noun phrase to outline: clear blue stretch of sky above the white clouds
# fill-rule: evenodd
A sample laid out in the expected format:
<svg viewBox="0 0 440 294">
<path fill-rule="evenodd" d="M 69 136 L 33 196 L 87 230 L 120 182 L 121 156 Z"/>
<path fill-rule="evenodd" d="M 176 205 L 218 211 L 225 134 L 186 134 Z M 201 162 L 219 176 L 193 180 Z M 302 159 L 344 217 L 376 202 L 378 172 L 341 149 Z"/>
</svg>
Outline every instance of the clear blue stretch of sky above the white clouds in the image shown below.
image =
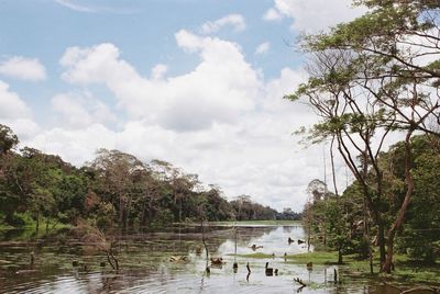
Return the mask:
<svg viewBox="0 0 440 294">
<path fill-rule="evenodd" d="M 8 79 L 20 87 L 28 102 L 43 106 L 57 91 L 69 89 L 59 81 L 59 57 L 70 46 L 112 43 L 121 56 L 142 75 L 150 75 L 156 64 L 167 64 L 168 75 L 180 75 L 197 65 L 196 55 L 176 46 L 174 34 L 180 29 L 197 31 L 208 21 L 231 13 L 243 15 L 245 32 L 221 30 L 219 37 L 242 46 L 249 63 L 262 68 L 266 78 L 274 78 L 286 66 L 298 67 L 301 56 L 289 47 L 297 32 L 289 30 L 289 20 L 265 22 L 262 15 L 273 1 L 64 1 L 91 12 L 69 9 L 52 0 L 3 1 L 0 4 L 1 57 L 37 57 L 46 68 L 45 83 L 28 84 Z M 123 3 L 123 5 L 121 4 Z M 255 48 L 271 43 L 271 52 L 255 56 Z M 47 87 L 50 83 L 50 87 Z M 101 89 L 102 91 L 102 89 Z M 103 95 L 108 93 L 103 92 Z M 40 118 L 44 118 L 42 108 Z"/>
</svg>

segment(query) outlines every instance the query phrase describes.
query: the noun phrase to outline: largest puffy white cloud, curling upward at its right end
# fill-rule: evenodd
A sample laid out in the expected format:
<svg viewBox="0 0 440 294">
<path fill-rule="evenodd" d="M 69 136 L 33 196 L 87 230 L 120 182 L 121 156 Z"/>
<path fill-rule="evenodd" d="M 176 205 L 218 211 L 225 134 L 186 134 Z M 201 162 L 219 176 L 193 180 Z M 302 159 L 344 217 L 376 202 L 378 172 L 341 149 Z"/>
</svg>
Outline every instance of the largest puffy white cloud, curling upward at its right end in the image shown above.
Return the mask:
<svg viewBox="0 0 440 294">
<path fill-rule="evenodd" d="M 215 122 L 233 123 L 253 110 L 261 81 L 239 45 L 184 30 L 176 33 L 176 41 L 201 59 L 182 76 L 141 77 L 120 58 L 114 45 L 100 44 L 68 48 L 61 59 L 66 68 L 63 78 L 82 86 L 103 83 L 131 118 L 179 132 L 209 128 Z"/>
</svg>

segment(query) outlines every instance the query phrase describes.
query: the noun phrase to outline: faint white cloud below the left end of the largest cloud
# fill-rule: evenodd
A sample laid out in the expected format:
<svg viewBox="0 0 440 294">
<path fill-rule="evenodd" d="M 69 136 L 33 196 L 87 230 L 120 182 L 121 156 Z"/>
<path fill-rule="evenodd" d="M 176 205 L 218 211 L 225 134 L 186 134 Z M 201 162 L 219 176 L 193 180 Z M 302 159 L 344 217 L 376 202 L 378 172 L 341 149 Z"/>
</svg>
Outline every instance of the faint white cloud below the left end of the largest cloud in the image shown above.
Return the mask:
<svg viewBox="0 0 440 294">
<path fill-rule="evenodd" d="M 117 121 L 109 108 L 89 92 L 57 94 L 52 99 L 52 109 L 58 115 L 57 125 L 73 128 Z"/>
</svg>

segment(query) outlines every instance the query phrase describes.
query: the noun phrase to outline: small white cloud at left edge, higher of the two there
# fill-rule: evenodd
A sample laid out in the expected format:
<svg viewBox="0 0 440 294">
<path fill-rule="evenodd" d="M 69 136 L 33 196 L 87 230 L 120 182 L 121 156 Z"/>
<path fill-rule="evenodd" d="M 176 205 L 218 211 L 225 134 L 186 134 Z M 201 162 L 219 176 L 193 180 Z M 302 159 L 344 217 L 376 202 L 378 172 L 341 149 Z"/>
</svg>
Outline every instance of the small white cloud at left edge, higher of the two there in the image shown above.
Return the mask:
<svg viewBox="0 0 440 294">
<path fill-rule="evenodd" d="M 0 75 L 21 80 L 40 81 L 46 78 L 46 70 L 36 58 L 13 56 L 0 63 Z"/>
</svg>

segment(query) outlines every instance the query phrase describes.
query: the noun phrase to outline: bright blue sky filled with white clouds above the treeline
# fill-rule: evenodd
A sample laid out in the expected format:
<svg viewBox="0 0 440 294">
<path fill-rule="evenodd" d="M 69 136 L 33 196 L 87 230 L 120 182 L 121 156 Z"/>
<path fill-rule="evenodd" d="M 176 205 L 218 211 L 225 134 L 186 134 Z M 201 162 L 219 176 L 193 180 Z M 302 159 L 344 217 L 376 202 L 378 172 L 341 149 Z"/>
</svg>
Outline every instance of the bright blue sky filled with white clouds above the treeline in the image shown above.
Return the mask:
<svg viewBox="0 0 440 294">
<path fill-rule="evenodd" d="M 118 149 L 299 212 L 324 147 L 293 135 L 317 122 L 283 100 L 307 80 L 295 42 L 363 12 L 350 0 L 1 0 L 0 124 L 78 167 Z M 344 185 L 340 160 L 337 172 Z"/>
</svg>

